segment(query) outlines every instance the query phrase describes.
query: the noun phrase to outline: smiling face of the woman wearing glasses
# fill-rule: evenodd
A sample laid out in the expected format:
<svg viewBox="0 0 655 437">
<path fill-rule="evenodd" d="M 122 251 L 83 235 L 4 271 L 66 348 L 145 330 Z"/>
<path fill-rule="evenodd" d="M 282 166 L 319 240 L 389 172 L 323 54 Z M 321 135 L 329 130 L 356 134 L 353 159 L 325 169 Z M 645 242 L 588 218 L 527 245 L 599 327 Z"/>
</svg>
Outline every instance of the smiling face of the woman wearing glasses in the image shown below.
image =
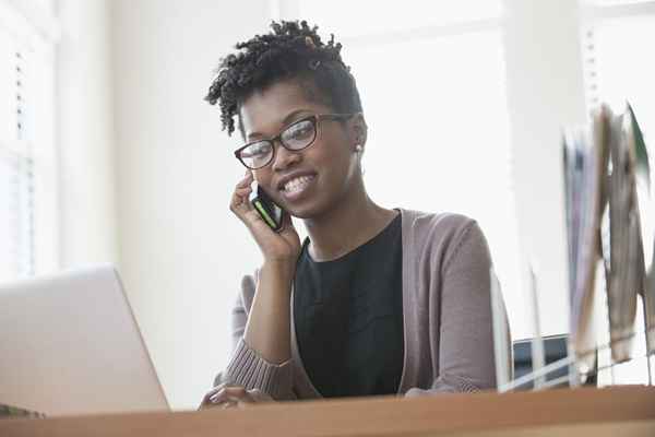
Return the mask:
<svg viewBox="0 0 655 437">
<path fill-rule="evenodd" d="M 332 113 L 330 107 L 308 99 L 300 85 L 286 81 L 250 96 L 243 102 L 240 115 L 249 143 L 276 137 L 309 115 Z M 343 201 L 355 177 L 360 177 L 353 125 L 350 120 L 342 123 L 322 119 L 313 143 L 298 152 L 275 142 L 273 161 L 253 170 L 254 179 L 289 214 L 300 218 L 323 214 Z M 285 184 L 289 177 L 291 184 Z"/>
</svg>

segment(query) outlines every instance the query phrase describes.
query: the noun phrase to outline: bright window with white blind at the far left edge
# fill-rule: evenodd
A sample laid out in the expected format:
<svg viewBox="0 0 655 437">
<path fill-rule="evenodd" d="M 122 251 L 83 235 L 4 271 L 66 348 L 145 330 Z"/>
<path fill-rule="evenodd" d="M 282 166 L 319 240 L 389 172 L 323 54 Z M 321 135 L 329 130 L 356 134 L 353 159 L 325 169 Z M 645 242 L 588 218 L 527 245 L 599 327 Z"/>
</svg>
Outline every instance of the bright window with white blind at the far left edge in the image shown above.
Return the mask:
<svg viewBox="0 0 655 437">
<path fill-rule="evenodd" d="M 39 27 L 0 3 L 0 281 L 56 263 L 52 57 Z"/>
</svg>

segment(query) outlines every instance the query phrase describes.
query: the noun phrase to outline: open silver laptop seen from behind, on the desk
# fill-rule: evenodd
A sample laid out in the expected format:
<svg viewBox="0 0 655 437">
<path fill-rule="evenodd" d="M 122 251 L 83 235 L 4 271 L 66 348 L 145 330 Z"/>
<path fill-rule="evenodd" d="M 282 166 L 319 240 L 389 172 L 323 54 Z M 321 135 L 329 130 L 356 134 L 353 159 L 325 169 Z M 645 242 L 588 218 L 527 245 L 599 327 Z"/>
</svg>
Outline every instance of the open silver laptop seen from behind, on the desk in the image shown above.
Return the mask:
<svg viewBox="0 0 655 437">
<path fill-rule="evenodd" d="M 168 410 L 114 267 L 0 283 L 0 403 L 46 416 Z"/>
</svg>

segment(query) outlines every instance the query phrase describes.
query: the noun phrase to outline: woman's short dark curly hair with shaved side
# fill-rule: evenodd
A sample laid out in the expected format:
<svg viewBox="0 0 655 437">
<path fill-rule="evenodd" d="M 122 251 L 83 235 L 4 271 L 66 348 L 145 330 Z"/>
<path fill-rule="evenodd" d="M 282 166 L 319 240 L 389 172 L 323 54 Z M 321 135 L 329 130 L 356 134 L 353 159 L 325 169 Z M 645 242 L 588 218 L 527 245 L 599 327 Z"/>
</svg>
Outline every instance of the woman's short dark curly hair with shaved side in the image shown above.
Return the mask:
<svg viewBox="0 0 655 437">
<path fill-rule="evenodd" d="M 240 105 L 252 93 L 283 80 L 298 80 L 308 98 L 336 113 L 361 111 L 355 78 L 334 35 L 323 44 L 318 26 L 309 27 L 306 21 L 272 22 L 271 28 L 266 35 L 238 43 L 235 47 L 240 51 L 221 59 L 205 101 L 212 105 L 219 101 L 223 130 L 235 131 L 234 117 L 239 117 Z"/>
</svg>

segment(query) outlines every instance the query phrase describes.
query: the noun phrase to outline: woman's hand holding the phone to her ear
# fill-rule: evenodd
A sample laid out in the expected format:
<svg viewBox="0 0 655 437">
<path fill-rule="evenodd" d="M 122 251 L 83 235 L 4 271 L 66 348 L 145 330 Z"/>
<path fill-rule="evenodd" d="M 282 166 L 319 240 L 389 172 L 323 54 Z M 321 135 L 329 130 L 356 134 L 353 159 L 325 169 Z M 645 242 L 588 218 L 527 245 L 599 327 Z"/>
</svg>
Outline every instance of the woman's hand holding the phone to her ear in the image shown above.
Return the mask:
<svg viewBox="0 0 655 437">
<path fill-rule="evenodd" d="M 260 247 L 265 261 L 288 262 L 295 268 L 300 255 L 300 237 L 294 227 L 288 213 L 283 214 L 283 229 L 279 233 L 271 229 L 250 203 L 253 181 L 251 170 L 237 184 L 229 209 L 246 224 Z"/>
</svg>

